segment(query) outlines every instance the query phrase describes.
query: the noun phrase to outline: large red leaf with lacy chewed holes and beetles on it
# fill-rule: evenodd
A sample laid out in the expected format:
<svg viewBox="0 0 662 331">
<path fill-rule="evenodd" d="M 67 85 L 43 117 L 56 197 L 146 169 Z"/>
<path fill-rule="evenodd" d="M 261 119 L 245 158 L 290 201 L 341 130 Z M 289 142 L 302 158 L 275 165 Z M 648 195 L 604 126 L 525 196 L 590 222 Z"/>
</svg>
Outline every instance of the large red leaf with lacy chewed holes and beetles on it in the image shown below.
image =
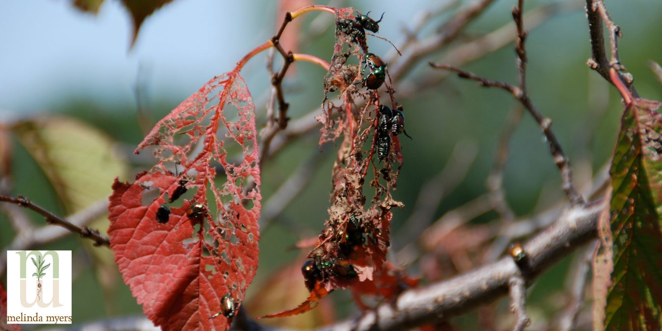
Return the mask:
<svg viewBox="0 0 662 331">
<path fill-rule="evenodd" d="M 237 112 L 229 113 L 227 104 Z M 221 311 L 228 293 L 238 309 L 255 276 L 261 195 L 254 110 L 238 73 L 214 77 L 160 120 L 138 146 L 156 146 L 158 163 L 133 183 L 113 184 L 108 232 L 115 261 L 144 313 L 166 330 L 226 330 L 226 316 L 210 318 Z M 219 127 L 230 139 L 218 138 Z M 178 144 L 182 136 L 187 141 Z M 243 152 L 238 164 L 226 160 L 232 142 Z M 191 157 L 196 146 L 201 151 Z M 220 186 L 214 181 L 216 162 L 226 177 Z M 169 171 L 171 166 L 179 175 Z M 159 222 L 160 206 L 181 185 L 195 191 L 193 199 L 169 207 L 167 218 Z M 144 195 L 154 190 L 158 196 L 142 205 Z M 214 203 L 207 203 L 208 196 Z"/>
</svg>

